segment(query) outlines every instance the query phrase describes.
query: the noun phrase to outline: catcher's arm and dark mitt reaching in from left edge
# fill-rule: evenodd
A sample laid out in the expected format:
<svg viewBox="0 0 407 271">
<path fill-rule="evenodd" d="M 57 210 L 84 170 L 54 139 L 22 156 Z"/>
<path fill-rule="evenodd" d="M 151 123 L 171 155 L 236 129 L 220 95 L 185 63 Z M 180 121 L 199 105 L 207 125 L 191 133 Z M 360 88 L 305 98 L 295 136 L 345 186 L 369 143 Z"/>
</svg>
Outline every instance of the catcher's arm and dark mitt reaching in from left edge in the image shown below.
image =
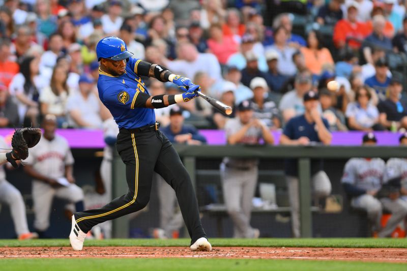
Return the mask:
<svg viewBox="0 0 407 271">
<path fill-rule="evenodd" d="M 28 157 L 28 148 L 32 148 L 41 139 L 41 129 L 39 128 L 22 128 L 14 132 L 11 139 L 11 152 L 0 154 L 0 164 L 7 161 L 13 167 L 18 167 L 17 160 L 23 160 Z"/>
</svg>

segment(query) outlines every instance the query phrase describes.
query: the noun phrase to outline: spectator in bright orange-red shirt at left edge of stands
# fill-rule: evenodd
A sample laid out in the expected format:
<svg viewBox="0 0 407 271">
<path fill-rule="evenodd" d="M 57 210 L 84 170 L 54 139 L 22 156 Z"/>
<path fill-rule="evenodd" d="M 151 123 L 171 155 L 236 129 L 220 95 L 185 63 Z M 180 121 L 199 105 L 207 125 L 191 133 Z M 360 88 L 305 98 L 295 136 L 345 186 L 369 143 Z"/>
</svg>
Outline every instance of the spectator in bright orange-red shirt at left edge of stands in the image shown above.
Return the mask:
<svg viewBox="0 0 407 271">
<path fill-rule="evenodd" d="M 8 87 L 19 69 L 18 64 L 12 60 L 10 41 L 0 39 L 0 83 Z"/>
</svg>

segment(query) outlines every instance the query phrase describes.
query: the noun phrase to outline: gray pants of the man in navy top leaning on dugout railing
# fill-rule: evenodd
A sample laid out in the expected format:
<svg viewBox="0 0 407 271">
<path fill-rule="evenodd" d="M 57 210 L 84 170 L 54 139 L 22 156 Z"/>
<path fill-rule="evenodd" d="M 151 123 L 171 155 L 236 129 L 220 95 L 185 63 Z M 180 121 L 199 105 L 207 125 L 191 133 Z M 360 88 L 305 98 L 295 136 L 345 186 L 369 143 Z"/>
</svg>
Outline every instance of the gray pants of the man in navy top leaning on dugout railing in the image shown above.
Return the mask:
<svg viewBox="0 0 407 271">
<path fill-rule="evenodd" d="M 291 223 L 294 237 L 301 237 L 300 233 L 300 190 L 299 179 L 294 176 L 286 176 L 288 185 L 288 197 L 291 205 Z M 331 181 L 325 171 L 318 171 L 311 177 L 312 195 L 315 199 L 325 198 L 331 194 Z"/>
</svg>

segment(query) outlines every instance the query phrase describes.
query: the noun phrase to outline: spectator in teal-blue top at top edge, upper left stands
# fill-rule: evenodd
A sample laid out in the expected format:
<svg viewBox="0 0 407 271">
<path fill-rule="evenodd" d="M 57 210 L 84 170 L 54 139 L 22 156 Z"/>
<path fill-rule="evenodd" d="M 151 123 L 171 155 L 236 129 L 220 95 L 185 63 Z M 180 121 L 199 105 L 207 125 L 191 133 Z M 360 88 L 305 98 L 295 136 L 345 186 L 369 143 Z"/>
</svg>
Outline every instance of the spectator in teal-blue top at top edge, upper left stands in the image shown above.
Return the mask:
<svg viewBox="0 0 407 271">
<path fill-rule="evenodd" d="M 50 37 L 56 31 L 56 18 L 51 14 L 50 1 L 37 0 L 36 13 L 38 14 L 38 31 L 46 37 Z"/>
</svg>

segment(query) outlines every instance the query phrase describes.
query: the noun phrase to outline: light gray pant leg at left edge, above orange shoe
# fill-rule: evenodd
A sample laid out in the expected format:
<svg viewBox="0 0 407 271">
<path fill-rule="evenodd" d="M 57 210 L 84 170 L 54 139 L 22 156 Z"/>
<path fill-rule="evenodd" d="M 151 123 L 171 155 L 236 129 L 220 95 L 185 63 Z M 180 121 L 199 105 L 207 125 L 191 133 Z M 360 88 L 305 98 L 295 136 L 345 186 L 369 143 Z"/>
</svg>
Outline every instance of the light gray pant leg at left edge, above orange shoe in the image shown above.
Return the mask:
<svg viewBox="0 0 407 271">
<path fill-rule="evenodd" d="M 11 217 L 14 222 L 14 229 L 17 235 L 30 232 L 25 215 L 25 204 L 20 191 L 7 180 L 0 180 L 0 202 L 10 206 Z"/>
</svg>

